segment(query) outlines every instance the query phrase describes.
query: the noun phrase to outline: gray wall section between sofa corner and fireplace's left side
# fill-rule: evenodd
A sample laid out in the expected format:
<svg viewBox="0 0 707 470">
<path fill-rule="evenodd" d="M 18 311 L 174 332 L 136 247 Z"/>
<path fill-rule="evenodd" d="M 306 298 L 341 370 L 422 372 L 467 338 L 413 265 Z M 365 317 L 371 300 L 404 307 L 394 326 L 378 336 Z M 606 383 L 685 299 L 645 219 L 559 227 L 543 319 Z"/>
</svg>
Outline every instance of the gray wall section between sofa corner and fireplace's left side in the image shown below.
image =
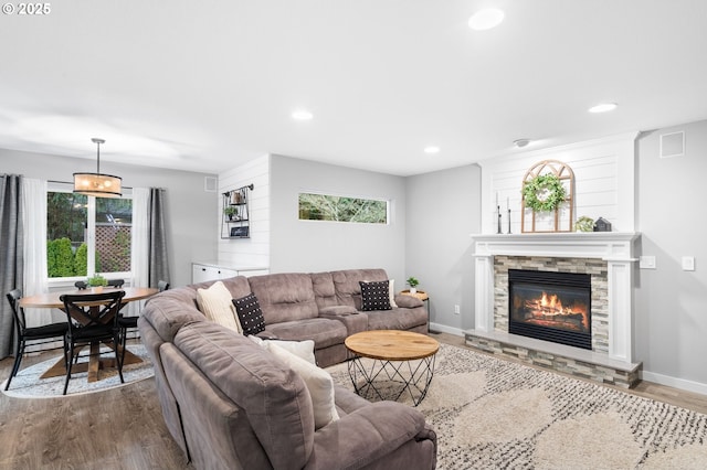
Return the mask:
<svg viewBox="0 0 707 470">
<path fill-rule="evenodd" d="M 462 334 L 474 327 L 469 235 L 481 231 L 481 173 L 472 164 L 407 179 L 405 278 L 416 277 L 430 296 L 436 331 Z"/>
</svg>

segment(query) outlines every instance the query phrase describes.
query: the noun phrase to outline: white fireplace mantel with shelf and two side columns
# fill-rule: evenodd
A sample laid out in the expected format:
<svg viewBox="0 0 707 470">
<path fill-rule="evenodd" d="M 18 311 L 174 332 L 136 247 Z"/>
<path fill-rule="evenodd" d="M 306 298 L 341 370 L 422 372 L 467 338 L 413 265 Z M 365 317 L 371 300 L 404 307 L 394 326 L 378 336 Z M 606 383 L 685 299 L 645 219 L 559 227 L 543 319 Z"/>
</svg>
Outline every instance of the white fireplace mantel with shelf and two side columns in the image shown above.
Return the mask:
<svg viewBox="0 0 707 470">
<path fill-rule="evenodd" d="M 633 267 L 637 232 L 474 234 L 475 329 L 494 331 L 494 256 L 598 258 L 608 264 L 609 359 L 633 362 Z"/>
</svg>

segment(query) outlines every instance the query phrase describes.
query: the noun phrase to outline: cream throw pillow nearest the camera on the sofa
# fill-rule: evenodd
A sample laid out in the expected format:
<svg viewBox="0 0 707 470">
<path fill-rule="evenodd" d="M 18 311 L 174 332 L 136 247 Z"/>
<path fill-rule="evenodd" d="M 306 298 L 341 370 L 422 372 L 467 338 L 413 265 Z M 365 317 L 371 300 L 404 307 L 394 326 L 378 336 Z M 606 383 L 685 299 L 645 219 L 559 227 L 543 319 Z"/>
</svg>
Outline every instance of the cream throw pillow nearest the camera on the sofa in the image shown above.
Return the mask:
<svg viewBox="0 0 707 470">
<path fill-rule="evenodd" d="M 334 381 L 331 375 L 324 368 L 297 357 L 277 344 L 271 344 L 268 349 L 305 382 L 312 397 L 315 430 L 339 419 L 334 402 Z"/>
</svg>

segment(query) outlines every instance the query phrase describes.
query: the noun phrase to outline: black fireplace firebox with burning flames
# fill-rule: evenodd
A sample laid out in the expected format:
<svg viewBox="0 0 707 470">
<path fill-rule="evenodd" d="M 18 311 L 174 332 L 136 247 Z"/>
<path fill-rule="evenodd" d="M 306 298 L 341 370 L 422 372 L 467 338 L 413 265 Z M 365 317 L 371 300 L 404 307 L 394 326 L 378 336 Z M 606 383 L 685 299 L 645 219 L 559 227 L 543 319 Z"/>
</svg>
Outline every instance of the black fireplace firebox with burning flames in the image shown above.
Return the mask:
<svg viewBox="0 0 707 470">
<path fill-rule="evenodd" d="M 508 269 L 508 332 L 592 349 L 591 276 Z"/>
</svg>

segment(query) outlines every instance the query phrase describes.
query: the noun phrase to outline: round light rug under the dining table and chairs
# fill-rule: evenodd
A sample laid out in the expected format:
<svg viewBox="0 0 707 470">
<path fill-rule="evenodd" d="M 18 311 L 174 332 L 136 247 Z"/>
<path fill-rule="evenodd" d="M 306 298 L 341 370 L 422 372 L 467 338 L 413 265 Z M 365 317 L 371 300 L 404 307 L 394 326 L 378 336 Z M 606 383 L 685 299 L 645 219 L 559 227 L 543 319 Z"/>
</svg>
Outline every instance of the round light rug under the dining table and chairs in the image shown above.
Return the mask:
<svg viewBox="0 0 707 470">
<path fill-rule="evenodd" d="M 55 356 L 27 368 L 20 368 L 18 375 L 12 378 L 12 382 L 10 383 L 10 389 L 4 392 L 7 380 L 2 382 L 0 389 L 6 395 L 18 398 L 54 398 L 103 392 L 129 385 L 155 375 L 152 363 L 147 355 L 147 351 L 145 351 L 145 346 L 141 344 L 129 345 L 128 351 L 139 356 L 143 362 L 139 364 L 128 364 L 123 367 L 123 378 L 125 380 L 124 384 L 120 383 L 117 370 L 101 371 L 102 378 L 91 383 L 86 380 L 86 372 L 78 372 L 72 374 L 66 395 L 62 395 L 62 392 L 64 391 L 64 381 L 66 380 L 65 375 L 40 378 L 44 372 L 60 360 L 60 356 Z M 86 360 L 87 357 L 83 357 L 80 359 L 80 362 Z M 22 367 L 22 365 L 20 365 L 20 367 Z"/>
</svg>

